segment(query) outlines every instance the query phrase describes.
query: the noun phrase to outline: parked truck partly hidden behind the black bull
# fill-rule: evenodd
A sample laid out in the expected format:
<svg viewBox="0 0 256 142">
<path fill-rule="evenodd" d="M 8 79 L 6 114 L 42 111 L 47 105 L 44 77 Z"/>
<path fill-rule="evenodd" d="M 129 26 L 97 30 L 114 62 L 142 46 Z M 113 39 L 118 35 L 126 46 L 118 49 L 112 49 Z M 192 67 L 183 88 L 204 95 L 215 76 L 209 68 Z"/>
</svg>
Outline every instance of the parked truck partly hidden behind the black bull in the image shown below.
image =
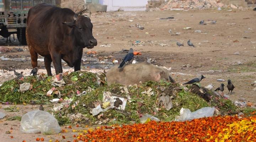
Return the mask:
<svg viewBox="0 0 256 142">
<path fill-rule="evenodd" d="M 40 3 L 59 6 L 60 0 L 0 0 L 0 35 L 8 38 L 11 34 L 17 34 L 20 45 L 27 45 L 28 10 Z"/>
</svg>

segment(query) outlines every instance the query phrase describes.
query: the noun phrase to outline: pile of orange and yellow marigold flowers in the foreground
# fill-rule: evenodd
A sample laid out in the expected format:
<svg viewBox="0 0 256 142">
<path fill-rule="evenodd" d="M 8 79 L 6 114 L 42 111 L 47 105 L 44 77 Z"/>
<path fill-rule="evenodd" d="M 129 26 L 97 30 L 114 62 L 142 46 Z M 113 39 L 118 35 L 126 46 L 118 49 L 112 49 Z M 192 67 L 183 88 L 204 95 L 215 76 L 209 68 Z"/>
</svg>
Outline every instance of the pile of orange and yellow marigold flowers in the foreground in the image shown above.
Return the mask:
<svg viewBox="0 0 256 142">
<path fill-rule="evenodd" d="M 108 130 L 106 130 L 108 129 Z M 110 130 L 109 130 L 110 129 Z M 217 116 L 185 122 L 102 126 L 79 133 L 84 142 L 256 142 L 256 116 Z"/>
</svg>

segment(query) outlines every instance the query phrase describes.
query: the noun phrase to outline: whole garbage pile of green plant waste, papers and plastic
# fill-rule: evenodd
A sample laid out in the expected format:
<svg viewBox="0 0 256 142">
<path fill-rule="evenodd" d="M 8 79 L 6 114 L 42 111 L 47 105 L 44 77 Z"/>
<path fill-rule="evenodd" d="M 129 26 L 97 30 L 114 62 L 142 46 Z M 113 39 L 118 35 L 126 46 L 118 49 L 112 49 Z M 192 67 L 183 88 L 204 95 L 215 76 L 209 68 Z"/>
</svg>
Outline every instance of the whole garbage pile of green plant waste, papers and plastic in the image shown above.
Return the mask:
<svg viewBox="0 0 256 142">
<path fill-rule="evenodd" d="M 6 81 L 0 87 L 0 101 L 52 103 L 50 113 L 60 125 L 185 121 L 209 117 L 213 112 L 215 115 L 239 113 L 238 107 L 225 96 L 218 96 L 198 83 L 192 86 L 161 81 L 107 86 L 103 73 L 78 71 L 63 73 L 60 81 L 42 74 L 40 78 L 27 76 L 22 81 Z"/>
</svg>

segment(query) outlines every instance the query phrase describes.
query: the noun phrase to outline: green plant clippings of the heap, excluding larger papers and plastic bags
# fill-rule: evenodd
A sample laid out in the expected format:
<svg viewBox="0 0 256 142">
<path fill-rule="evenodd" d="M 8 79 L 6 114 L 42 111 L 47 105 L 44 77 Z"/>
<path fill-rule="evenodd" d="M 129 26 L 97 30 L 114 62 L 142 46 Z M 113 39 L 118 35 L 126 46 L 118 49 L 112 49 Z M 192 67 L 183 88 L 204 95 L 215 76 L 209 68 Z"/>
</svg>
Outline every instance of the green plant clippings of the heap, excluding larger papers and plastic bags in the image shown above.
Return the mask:
<svg viewBox="0 0 256 142">
<path fill-rule="evenodd" d="M 64 75 L 65 85 L 56 87 L 63 98 L 62 103 L 55 104 L 51 111 L 60 124 L 67 123 L 91 123 L 91 124 L 123 124 L 138 123 L 140 117 L 145 114 L 157 117 L 161 121 L 171 121 L 179 115 L 181 108 L 188 108 L 191 112 L 203 107 L 215 107 L 219 109 L 220 114 L 229 114 L 235 112 L 236 107 L 230 100 L 222 100 L 217 97 L 214 103 L 206 102 L 200 96 L 191 93 L 190 90 L 184 90 L 178 84 L 161 82 L 147 82 L 139 85 L 122 86 L 105 83 L 105 75 L 102 73 L 73 72 Z M 19 86 L 22 83 L 33 85 L 31 90 L 20 92 Z M 0 87 L 0 101 L 13 102 L 15 104 L 29 103 L 30 100 L 36 101 L 36 104 L 48 104 L 52 98 L 57 98 L 58 94 L 47 97 L 46 93 L 52 88 L 52 77 L 37 81 L 34 76 L 28 76 L 23 81 L 6 81 Z M 109 109 L 98 115 L 92 116 L 91 109 L 98 104 L 102 106 L 104 92 L 128 97 L 124 110 Z M 160 97 L 162 95 L 170 96 L 173 107 L 166 110 Z M 67 103 L 64 103 L 67 102 Z"/>
</svg>

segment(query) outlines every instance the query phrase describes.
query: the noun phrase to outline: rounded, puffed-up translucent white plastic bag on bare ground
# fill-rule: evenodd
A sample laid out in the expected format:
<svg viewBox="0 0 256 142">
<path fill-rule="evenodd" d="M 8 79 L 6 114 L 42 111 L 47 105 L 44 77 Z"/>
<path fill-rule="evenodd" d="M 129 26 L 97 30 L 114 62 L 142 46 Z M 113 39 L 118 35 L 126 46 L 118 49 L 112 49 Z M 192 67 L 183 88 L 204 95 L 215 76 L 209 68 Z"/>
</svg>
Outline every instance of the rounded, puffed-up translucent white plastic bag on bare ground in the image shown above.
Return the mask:
<svg viewBox="0 0 256 142">
<path fill-rule="evenodd" d="M 34 110 L 24 114 L 21 118 L 20 131 L 26 134 L 41 132 L 44 135 L 58 134 L 60 126 L 56 118 L 42 110 Z"/>
</svg>

